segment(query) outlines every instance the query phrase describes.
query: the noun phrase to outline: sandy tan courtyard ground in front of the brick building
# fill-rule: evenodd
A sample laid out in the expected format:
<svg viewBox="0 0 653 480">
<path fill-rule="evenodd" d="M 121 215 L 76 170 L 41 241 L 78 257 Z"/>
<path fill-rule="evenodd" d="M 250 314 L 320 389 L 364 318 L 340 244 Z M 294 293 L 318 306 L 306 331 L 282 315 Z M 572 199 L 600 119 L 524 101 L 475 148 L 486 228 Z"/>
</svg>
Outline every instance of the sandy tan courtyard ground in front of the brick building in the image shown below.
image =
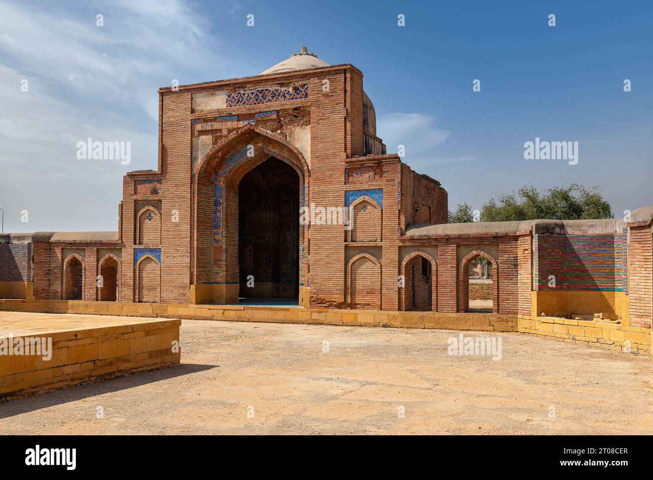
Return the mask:
<svg viewBox="0 0 653 480">
<path fill-rule="evenodd" d="M 0 434 L 653 434 L 650 357 L 459 333 L 183 321 L 182 365 L 5 402 Z"/>
</svg>

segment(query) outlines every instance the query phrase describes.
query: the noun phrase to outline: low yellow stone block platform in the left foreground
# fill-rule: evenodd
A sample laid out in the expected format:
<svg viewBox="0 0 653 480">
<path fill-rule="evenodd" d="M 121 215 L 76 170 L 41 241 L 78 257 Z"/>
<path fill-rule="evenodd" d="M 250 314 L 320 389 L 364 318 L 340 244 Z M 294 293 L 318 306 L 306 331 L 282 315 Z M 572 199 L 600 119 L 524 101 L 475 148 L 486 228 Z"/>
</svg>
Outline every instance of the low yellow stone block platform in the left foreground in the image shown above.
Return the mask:
<svg viewBox="0 0 653 480">
<path fill-rule="evenodd" d="M 179 364 L 180 325 L 179 319 L 0 312 L 0 401 Z"/>
</svg>

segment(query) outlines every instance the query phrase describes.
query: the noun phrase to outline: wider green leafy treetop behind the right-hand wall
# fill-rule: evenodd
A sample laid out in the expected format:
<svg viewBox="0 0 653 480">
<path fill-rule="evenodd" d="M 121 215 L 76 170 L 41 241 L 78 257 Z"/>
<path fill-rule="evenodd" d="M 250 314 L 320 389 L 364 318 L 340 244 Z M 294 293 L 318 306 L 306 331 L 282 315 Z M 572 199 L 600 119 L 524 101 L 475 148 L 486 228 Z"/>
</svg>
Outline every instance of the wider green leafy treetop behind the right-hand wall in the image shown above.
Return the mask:
<svg viewBox="0 0 653 480">
<path fill-rule="evenodd" d="M 612 207 L 601 195 L 601 187 L 553 187 L 542 192 L 524 185 L 511 193 L 495 193 L 483 205 L 481 221 L 580 220 L 613 218 Z"/>
</svg>

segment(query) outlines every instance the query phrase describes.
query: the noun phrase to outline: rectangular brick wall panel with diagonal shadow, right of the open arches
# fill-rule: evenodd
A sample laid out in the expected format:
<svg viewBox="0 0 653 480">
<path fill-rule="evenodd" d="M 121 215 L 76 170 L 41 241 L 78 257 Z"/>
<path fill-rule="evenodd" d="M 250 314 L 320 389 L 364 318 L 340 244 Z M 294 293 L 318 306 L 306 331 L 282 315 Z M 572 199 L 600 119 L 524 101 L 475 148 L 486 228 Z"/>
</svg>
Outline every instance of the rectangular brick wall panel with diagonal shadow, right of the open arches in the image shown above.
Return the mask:
<svg viewBox="0 0 653 480">
<path fill-rule="evenodd" d="M 626 232 L 616 235 L 535 235 L 535 290 L 627 291 Z M 556 287 L 549 287 L 549 276 Z"/>
</svg>

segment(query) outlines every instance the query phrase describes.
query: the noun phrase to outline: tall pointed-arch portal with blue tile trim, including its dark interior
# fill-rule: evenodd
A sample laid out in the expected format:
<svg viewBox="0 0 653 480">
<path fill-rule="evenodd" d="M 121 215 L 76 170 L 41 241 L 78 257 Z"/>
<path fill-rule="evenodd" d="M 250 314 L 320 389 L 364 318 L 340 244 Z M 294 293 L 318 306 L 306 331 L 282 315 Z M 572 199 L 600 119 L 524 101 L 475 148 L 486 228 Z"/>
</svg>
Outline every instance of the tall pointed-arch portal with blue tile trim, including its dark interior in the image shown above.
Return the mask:
<svg viewBox="0 0 653 480">
<path fill-rule="evenodd" d="M 193 178 L 191 301 L 297 298 L 308 274 L 309 168 L 285 138 L 245 125 L 200 160 Z"/>
</svg>

